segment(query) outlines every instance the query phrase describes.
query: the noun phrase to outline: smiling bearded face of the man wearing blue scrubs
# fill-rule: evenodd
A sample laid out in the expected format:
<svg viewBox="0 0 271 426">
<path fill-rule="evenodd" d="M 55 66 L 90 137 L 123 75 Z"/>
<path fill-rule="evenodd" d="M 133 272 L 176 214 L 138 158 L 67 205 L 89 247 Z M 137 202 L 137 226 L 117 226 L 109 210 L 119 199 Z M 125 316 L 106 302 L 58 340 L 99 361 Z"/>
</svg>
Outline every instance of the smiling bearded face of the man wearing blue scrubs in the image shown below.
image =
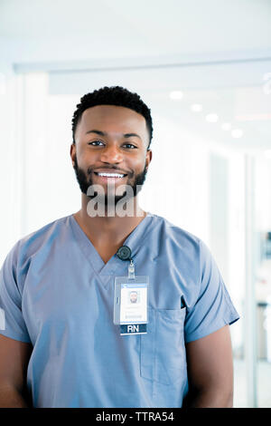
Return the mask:
<svg viewBox="0 0 271 426">
<path fill-rule="evenodd" d="M 151 150 L 147 151 L 149 135 L 142 115 L 114 105 L 91 107 L 82 114 L 75 140 L 70 157 L 84 194 L 96 184 L 102 187 L 106 204 L 110 185 L 115 191 L 121 185 L 129 185 L 136 195 L 136 186 L 143 185 L 152 158 Z M 110 176 L 112 173 L 115 175 Z M 115 202 L 126 191 L 117 193 Z"/>
</svg>

